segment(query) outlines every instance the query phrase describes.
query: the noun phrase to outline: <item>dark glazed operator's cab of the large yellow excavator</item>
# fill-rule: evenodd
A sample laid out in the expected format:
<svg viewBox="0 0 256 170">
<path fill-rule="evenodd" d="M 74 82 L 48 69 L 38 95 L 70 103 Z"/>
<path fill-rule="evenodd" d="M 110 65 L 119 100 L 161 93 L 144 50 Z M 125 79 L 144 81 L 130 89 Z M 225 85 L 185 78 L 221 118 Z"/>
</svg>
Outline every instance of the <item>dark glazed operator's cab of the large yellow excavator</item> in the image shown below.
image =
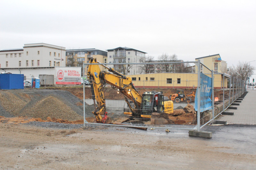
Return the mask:
<svg viewBox="0 0 256 170">
<path fill-rule="evenodd" d="M 164 95 L 161 92 L 144 92 L 140 106 L 140 116 L 150 118 L 153 112 L 164 111 Z"/>
</svg>

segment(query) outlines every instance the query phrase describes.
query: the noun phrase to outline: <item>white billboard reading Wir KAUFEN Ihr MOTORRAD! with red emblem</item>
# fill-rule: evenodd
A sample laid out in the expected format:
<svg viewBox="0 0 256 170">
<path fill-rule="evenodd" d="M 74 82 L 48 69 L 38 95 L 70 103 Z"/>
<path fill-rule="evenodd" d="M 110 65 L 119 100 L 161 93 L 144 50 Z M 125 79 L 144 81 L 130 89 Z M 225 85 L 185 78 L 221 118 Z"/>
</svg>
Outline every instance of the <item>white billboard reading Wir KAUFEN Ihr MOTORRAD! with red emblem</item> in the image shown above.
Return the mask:
<svg viewBox="0 0 256 170">
<path fill-rule="evenodd" d="M 56 84 L 77 85 L 81 84 L 80 67 L 56 67 Z"/>
</svg>

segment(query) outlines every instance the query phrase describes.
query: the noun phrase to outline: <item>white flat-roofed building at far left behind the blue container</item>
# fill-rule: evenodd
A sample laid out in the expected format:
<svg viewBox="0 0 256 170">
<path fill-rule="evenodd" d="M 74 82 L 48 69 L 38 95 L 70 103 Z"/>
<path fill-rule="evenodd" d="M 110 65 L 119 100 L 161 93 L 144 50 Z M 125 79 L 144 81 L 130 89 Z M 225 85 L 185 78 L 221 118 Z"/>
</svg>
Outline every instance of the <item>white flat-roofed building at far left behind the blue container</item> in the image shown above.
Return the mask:
<svg viewBox="0 0 256 170">
<path fill-rule="evenodd" d="M 65 66 L 66 48 L 45 44 L 24 44 L 23 48 L 0 50 L 0 72 L 24 74 L 25 78 L 49 74 L 49 68 Z"/>
</svg>

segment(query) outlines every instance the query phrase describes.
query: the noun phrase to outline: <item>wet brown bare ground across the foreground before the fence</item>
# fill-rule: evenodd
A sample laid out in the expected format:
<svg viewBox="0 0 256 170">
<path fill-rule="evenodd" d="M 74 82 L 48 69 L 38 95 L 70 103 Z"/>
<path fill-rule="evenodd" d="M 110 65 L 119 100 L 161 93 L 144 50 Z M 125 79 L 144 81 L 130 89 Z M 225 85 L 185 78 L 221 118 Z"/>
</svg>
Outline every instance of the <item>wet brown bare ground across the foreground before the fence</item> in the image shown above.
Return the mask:
<svg viewBox="0 0 256 170">
<path fill-rule="evenodd" d="M 221 128 L 225 137 L 215 129 L 206 140 L 187 131 L 0 123 L 0 169 L 254 169 L 253 135 L 237 142 L 231 129 Z"/>
</svg>

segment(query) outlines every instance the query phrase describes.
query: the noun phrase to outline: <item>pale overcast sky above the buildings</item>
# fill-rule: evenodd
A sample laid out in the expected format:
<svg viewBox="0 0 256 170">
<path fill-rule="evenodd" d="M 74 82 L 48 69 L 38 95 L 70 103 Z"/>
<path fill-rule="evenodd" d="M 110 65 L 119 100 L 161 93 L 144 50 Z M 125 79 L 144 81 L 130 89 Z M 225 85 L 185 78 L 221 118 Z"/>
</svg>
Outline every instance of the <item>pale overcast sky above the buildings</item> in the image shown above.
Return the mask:
<svg viewBox="0 0 256 170">
<path fill-rule="evenodd" d="M 256 1 L 13 1 L 0 5 L 0 49 L 47 43 L 66 49 L 134 48 L 228 65 L 256 60 Z M 256 61 L 251 62 L 256 67 Z"/>
</svg>

